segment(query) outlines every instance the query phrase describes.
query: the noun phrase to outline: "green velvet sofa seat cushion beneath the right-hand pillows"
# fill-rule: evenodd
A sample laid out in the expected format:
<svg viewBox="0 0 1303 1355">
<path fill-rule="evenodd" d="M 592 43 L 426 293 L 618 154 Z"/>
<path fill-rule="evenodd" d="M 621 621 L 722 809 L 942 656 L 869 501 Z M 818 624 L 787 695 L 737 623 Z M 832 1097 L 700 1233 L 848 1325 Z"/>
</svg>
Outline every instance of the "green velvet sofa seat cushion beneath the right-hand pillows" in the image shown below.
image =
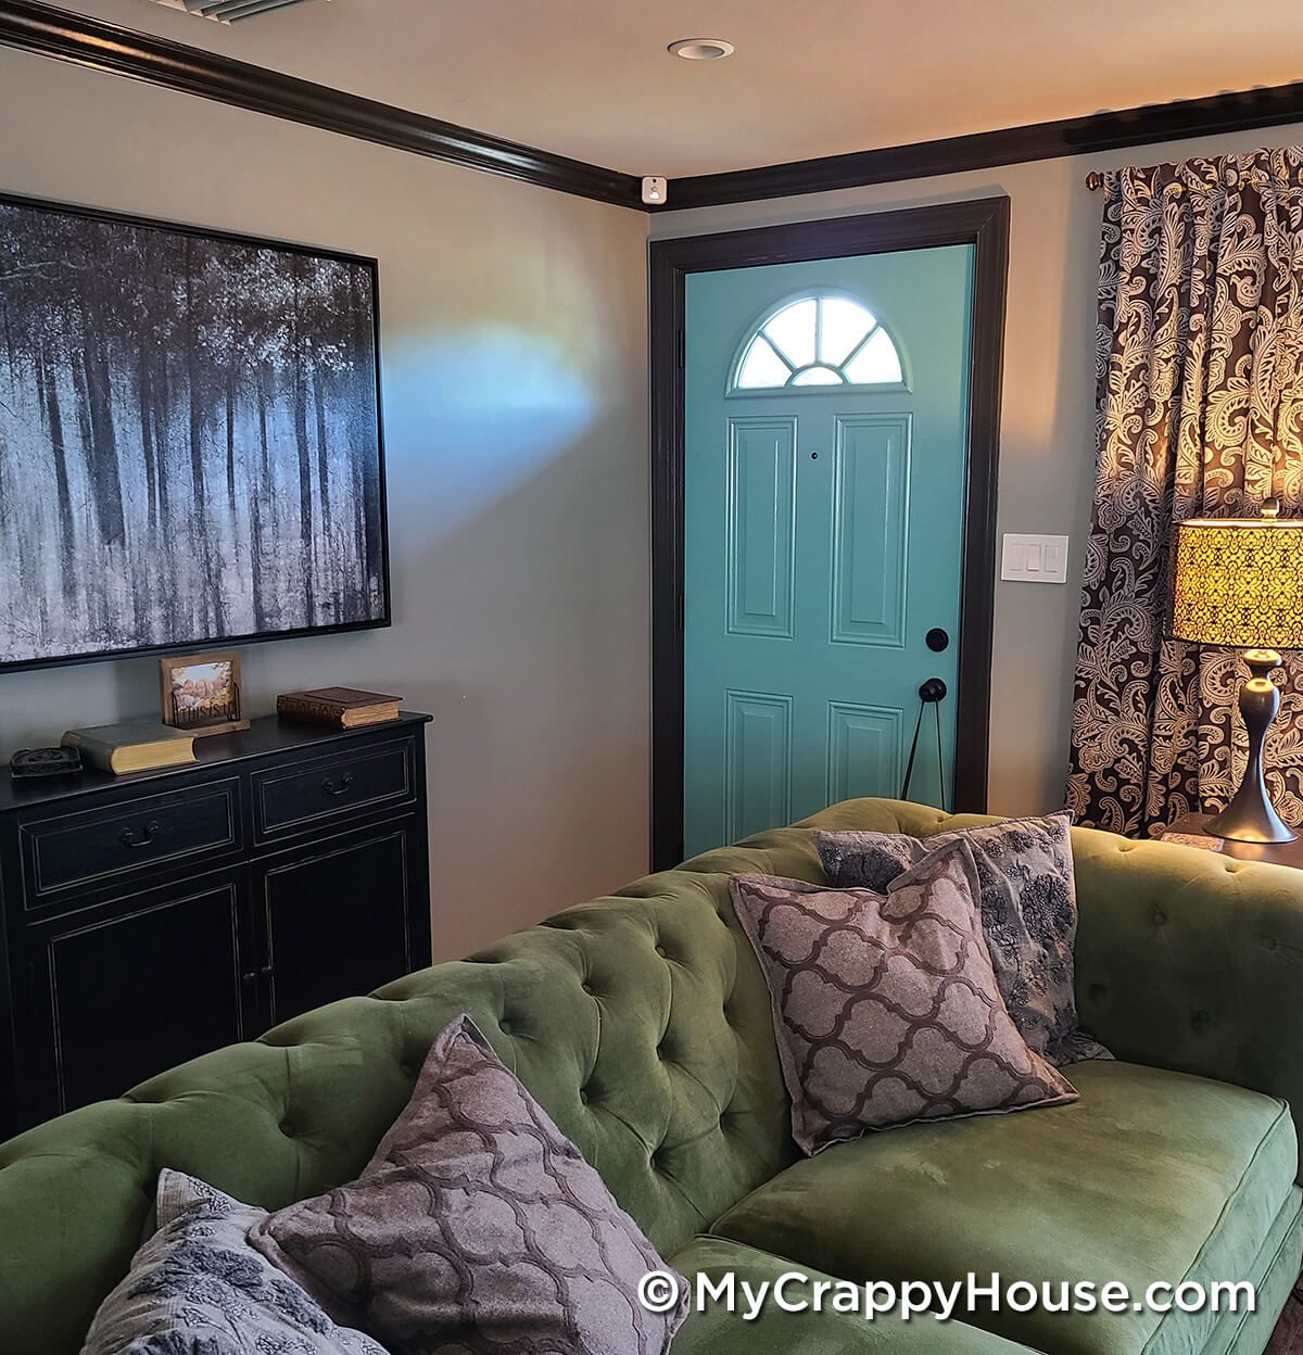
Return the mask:
<svg viewBox="0 0 1303 1355">
<path fill-rule="evenodd" d="M 1253 1275 L 1294 1191 L 1270 1096 L 1134 1064 L 1067 1069 L 1081 1098 L 1035 1115 L 914 1125 L 798 1163 L 712 1232 L 847 1279 L 998 1272 L 1008 1283 Z M 966 1321 L 1055 1355 L 1199 1351 L 1216 1314 L 1014 1313 Z M 1149 1343 L 1149 1344 L 1147 1344 Z"/>
</svg>

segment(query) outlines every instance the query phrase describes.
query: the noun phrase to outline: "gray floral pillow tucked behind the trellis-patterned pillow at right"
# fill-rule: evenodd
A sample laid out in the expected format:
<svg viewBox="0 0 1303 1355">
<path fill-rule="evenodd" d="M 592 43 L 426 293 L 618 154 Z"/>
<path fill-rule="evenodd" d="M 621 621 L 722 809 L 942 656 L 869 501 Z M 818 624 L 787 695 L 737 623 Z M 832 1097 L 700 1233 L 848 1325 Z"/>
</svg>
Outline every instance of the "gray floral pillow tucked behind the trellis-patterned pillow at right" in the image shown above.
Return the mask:
<svg viewBox="0 0 1303 1355">
<path fill-rule="evenodd" d="M 925 840 L 876 832 L 818 832 L 814 837 L 830 885 L 878 893 L 948 843 L 966 841 L 977 862 L 982 930 L 1001 996 L 1028 1047 L 1061 1068 L 1112 1057 L 1077 1024 L 1070 825 L 1067 814 L 1046 814 Z"/>
</svg>

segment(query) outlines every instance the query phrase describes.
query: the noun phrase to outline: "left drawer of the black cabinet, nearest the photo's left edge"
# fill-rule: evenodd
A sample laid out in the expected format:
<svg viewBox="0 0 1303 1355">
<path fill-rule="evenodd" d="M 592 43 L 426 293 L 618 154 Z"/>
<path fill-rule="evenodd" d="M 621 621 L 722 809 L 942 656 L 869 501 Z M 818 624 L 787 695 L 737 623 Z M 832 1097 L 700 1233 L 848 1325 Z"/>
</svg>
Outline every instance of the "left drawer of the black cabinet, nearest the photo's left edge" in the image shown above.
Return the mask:
<svg viewBox="0 0 1303 1355">
<path fill-rule="evenodd" d="M 163 863 L 240 844 L 238 780 L 187 786 L 167 795 L 28 820 L 19 825 L 28 908 Z"/>
</svg>

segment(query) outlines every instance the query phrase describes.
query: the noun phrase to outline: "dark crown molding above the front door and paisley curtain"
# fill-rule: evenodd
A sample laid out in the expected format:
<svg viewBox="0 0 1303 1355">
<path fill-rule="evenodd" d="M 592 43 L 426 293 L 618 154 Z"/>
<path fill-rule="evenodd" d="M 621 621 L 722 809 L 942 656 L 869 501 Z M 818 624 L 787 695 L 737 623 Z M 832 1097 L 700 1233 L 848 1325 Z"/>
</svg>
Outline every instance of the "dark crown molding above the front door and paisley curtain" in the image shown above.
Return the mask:
<svg viewBox="0 0 1303 1355">
<path fill-rule="evenodd" d="M 672 179 L 666 207 L 714 207 L 726 202 L 830 192 L 870 183 L 898 183 L 964 169 L 993 169 L 1029 160 L 1056 160 L 1159 141 L 1247 131 L 1285 122 L 1303 122 L 1303 83 L 1182 99 L 1120 112 L 1096 112 L 1085 118 L 1038 122 L 943 141 L 920 141 L 910 146 L 884 146 L 821 160 Z"/>
</svg>

